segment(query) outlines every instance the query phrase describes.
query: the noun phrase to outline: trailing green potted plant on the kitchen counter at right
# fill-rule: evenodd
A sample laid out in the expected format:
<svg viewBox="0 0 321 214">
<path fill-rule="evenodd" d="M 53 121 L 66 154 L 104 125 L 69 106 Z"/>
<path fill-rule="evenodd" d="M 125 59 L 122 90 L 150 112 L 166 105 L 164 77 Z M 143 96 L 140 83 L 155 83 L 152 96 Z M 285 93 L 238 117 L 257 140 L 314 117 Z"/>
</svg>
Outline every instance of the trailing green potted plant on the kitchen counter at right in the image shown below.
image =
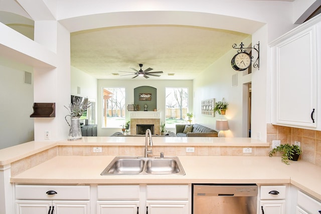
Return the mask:
<svg viewBox="0 0 321 214">
<path fill-rule="evenodd" d="M 280 144 L 273 148 L 269 152 L 269 156 L 272 157 L 276 152 L 282 153 L 282 162 L 289 164 L 287 160 L 296 161 L 299 158 L 299 155 L 302 153 L 301 147 L 298 145 Z"/>
</svg>

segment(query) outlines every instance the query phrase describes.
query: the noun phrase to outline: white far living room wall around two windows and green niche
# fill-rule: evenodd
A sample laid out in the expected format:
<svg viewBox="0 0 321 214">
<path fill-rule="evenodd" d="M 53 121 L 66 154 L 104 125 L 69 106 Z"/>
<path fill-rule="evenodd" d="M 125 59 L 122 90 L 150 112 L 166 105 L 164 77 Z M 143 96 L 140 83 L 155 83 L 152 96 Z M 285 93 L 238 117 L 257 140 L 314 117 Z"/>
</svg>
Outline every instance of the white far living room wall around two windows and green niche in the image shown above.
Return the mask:
<svg viewBox="0 0 321 214">
<path fill-rule="evenodd" d="M 98 136 L 110 136 L 119 128 L 102 127 L 102 88 L 124 87 L 126 88 L 126 106 L 134 103 L 134 88 L 139 86 L 152 86 L 157 89 L 157 109 L 161 112 L 161 121 L 165 121 L 165 88 L 187 87 L 189 88 L 189 111 L 193 111 L 193 81 L 192 80 L 98 80 Z M 126 110 L 126 121 L 130 120 L 130 112 Z M 172 130 L 174 131 L 174 130 Z"/>
</svg>

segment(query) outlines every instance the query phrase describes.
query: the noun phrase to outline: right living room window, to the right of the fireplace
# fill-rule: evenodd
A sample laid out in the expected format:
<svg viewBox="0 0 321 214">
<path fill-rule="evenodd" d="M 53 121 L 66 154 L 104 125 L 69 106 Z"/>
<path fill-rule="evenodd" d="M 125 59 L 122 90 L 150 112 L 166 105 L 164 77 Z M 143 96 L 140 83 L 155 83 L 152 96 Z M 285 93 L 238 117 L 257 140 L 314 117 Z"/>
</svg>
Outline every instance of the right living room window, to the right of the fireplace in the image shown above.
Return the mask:
<svg viewBox="0 0 321 214">
<path fill-rule="evenodd" d="M 166 88 L 166 127 L 175 128 L 176 124 L 185 124 L 188 112 L 188 88 Z"/>
</svg>

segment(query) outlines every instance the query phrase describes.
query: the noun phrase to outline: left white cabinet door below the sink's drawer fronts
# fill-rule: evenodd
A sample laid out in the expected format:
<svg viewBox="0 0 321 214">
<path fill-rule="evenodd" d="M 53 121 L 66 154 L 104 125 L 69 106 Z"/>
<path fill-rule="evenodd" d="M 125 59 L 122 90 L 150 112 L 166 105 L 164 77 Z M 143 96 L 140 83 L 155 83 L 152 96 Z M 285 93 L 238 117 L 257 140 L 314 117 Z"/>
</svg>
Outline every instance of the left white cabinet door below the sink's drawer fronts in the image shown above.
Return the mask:
<svg viewBox="0 0 321 214">
<path fill-rule="evenodd" d="M 138 200 L 124 200 L 124 201 L 97 201 L 97 214 L 137 214 L 140 212 Z"/>
</svg>

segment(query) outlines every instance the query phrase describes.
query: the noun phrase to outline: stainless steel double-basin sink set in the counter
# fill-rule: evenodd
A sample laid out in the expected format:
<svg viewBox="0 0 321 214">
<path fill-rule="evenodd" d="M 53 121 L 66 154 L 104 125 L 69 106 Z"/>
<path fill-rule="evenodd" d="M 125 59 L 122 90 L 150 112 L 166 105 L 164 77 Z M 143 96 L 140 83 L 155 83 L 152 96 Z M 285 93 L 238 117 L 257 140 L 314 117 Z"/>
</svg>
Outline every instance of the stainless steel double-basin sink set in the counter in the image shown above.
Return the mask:
<svg viewBox="0 0 321 214">
<path fill-rule="evenodd" d="M 101 175 L 185 175 L 178 157 L 116 156 Z"/>
</svg>

